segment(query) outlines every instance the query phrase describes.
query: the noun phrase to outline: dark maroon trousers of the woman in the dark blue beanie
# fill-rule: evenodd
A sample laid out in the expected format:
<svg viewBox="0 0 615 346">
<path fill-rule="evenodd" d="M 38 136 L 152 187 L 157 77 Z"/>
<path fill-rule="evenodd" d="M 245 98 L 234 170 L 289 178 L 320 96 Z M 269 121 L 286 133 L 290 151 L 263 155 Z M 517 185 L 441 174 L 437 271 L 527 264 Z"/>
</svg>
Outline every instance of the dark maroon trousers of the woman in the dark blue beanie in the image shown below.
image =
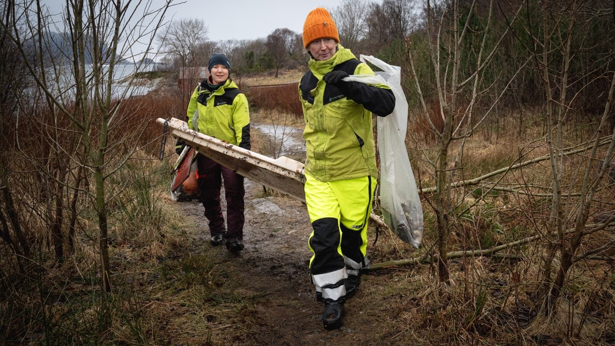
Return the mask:
<svg viewBox="0 0 615 346">
<path fill-rule="evenodd" d="M 206 156 L 197 156 L 199 164 L 200 202 L 205 207 L 205 217 L 209 221 L 212 235 L 224 233 L 224 216 L 220 206 L 220 188 L 224 179 L 224 198 L 226 198 L 226 235 L 227 240 L 244 239 L 244 177 L 232 169 L 221 166 Z"/>
</svg>

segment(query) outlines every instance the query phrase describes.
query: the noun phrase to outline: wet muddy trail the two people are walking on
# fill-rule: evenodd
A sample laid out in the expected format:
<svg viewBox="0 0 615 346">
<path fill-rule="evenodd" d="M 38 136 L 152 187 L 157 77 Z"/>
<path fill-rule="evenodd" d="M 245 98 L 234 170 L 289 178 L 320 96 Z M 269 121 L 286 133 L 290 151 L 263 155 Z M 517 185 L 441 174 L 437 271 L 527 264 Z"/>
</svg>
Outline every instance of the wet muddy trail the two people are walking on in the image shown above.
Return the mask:
<svg viewBox="0 0 615 346">
<path fill-rule="evenodd" d="M 309 278 L 308 237 L 312 228 L 305 204 L 277 192 L 267 193 L 263 186 L 249 179 L 245 180 L 245 190 L 245 249 L 239 255 L 231 254 L 224 246 L 210 245 L 207 219 L 198 201 L 176 204 L 187 223 L 194 225 L 190 251 L 207 252 L 216 267 L 223 267 L 232 291 L 246 306 L 233 318 L 238 323 L 216 321 L 221 328 L 213 332 L 212 344 L 397 344 L 397 328 L 392 328 L 397 330 L 393 335 L 389 334 L 391 331 L 385 332 L 389 336 L 383 339 L 380 325 L 392 317 L 391 308 L 385 302 L 373 304 L 370 300 L 369 291 L 382 289 L 370 287 L 376 278 L 373 273 L 363 276 L 356 296 L 346 302 L 344 326 L 336 331 L 323 329 L 323 305 L 315 300 Z M 224 198 L 222 205 L 226 215 Z M 378 272 L 378 276 L 383 275 L 388 274 Z"/>
</svg>

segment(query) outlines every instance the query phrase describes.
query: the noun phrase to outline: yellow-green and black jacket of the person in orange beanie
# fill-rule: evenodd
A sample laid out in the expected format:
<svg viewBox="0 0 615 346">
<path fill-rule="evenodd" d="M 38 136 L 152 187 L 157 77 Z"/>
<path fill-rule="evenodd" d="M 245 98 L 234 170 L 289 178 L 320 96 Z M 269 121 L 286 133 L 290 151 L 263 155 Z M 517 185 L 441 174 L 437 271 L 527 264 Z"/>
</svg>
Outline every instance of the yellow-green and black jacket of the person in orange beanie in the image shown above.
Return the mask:
<svg viewBox="0 0 615 346">
<path fill-rule="evenodd" d="M 395 108 L 389 86 L 347 82 L 343 91 L 322 80 L 333 70 L 348 74 L 371 74 L 370 66 L 338 45 L 328 60 L 311 59 L 301 78 L 299 98 L 303 107 L 306 140 L 305 171 L 321 182 L 378 177 L 372 128 L 372 113 L 387 116 Z"/>
</svg>

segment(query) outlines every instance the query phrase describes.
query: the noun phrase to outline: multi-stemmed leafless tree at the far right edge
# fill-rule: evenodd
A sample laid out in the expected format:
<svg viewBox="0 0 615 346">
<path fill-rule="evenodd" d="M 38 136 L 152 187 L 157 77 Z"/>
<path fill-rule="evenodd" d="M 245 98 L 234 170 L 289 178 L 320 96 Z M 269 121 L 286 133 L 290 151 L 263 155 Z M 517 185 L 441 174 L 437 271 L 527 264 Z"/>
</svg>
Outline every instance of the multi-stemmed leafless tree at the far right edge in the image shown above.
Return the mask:
<svg viewBox="0 0 615 346">
<path fill-rule="evenodd" d="M 529 42 L 525 42 L 526 47 L 533 57 L 536 71 L 540 74 L 546 100 L 545 140 L 549 148 L 552 172 L 552 198 L 549 216 L 544 220 L 546 230 L 541 231 L 541 235 L 547 241 L 547 254 L 544 257 L 543 267 L 545 310 L 547 313 L 554 313 L 555 302 L 560 297 L 568 272 L 574 263 L 587 255 L 600 252 L 579 255 L 577 252 L 581 249 L 583 239 L 595 231 L 605 229 L 615 220 L 615 215 L 607 215 L 600 223 L 588 225 L 590 215 L 595 212 L 595 204 L 600 203 L 598 196 L 604 188 L 603 181 L 608 177 L 606 174 L 611 167 L 615 149 L 615 129 L 609 126 L 615 91 L 615 74 L 612 69 L 599 76 L 600 79 L 611 81 L 608 91 L 605 91 L 608 97 L 593 141 L 585 148 L 581 162 L 575 164 L 578 167 L 577 174 L 570 173 L 571 158 L 565 154 L 565 147 L 570 142 L 565 133 L 567 119 L 572 116 L 573 105 L 577 97 L 582 95 L 582 89 L 588 87 L 588 84 L 584 83 L 582 87 L 576 87 L 576 93 L 569 94 L 574 91 L 575 84 L 571 78 L 571 66 L 577 59 L 579 50 L 579 47 L 573 47 L 575 32 L 578 26 L 600 20 L 599 17 L 613 20 L 612 13 L 606 15 L 613 8 L 606 7 L 605 4 L 602 5 L 603 8 L 593 7 L 596 4 L 590 5 L 585 1 L 565 4 L 539 2 L 539 4 L 542 15 L 533 18 L 529 12 L 526 12 L 525 20 L 528 26 L 523 28 L 525 31 L 523 34 L 530 38 Z M 524 4 L 526 8 L 533 5 L 531 1 Z M 537 26 L 540 30 L 533 31 L 531 26 Z M 612 42 L 611 39 L 609 45 Z M 613 64 L 615 55 L 612 49 L 605 58 L 607 65 Z M 555 60 L 559 60 L 560 63 L 553 63 Z M 606 148 L 601 149 L 601 147 Z M 608 244 L 608 240 L 605 243 Z M 559 264 L 555 264 L 558 253 L 561 258 Z M 555 278 L 552 273 L 554 265 L 558 267 Z"/>
</svg>

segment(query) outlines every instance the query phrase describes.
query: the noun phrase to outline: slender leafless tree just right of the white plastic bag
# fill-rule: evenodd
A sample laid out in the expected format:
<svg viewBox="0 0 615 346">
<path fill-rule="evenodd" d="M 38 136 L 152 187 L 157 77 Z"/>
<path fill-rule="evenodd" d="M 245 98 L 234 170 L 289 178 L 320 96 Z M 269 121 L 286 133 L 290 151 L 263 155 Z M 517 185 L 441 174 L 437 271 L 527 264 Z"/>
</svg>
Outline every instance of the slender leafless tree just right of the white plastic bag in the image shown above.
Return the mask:
<svg viewBox="0 0 615 346">
<path fill-rule="evenodd" d="M 471 17 L 477 10 L 476 1 L 471 6 L 461 9 L 459 1 L 451 1 L 445 7 L 440 17 L 435 17 L 435 12 L 431 8 L 431 1 L 427 1 L 427 37 L 429 59 L 431 68 L 435 76 L 435 81 L 431 84 L 432 89 L 424 91 L 421 89 L 419 78 L 413 78 L 413 82 L 421 103 L 421 113 L 426 123 L 429 124 L 431 131 L 437 136 L 438 153 L 434 158 L 430 158 L 425 153 L 426 161 L 432 166 L 436 187 L 433 195 L 429 198 L 429 204 L 435 212 L 437 228 L 437 255 L 438 278 L 442 283 L 450 282 L 450 272 L 448 268 L 448 236 L 450 226 L 455 217 L 455 209 L 459 206 L 456 198 L 462 194 L 453 193 L 451 183 L 454 171 L 462 160 L 464 147 L 472 133 L 477 129 L 483 120 L 493 115 L 496 104 L 501 95 L 507 89 L 507 85 L 514 79 L 513 74 L 508 81 L 505 81 L 501 90 L 494 90 L 492 85 L 485 85 L 483 74 L 486 68 L 493 62 L 494 52 L 499 48 L 499 41 L 507 34 L 503 33 L 498 38 L 496 44 L 488 48 L 485 44 L 493 27 L 494 2 L 490 2 L 488 7 L 488 19 L 482 31 L 470 31 L 469 20 L 465 23 L 460 22 L 461 17 Z M 462 13 L 462 11 L 464 11 Z M 463 15 L 463 16 L 462 16 Z M 399 26 L 397 30 L 403 30 Z M 472 47 L 464 47 L 461 42 L 464 36 L 473 35 L 476 44 Z M 405 37 L 405 36 L 404 36 Z M 413 76 L 417 76 L 415 62 L 415 47 L 411 46 L 411 40 L 407 40 L 407 53 Z M 465 54 L 464 49 L 475 51 L 476 59 L 472 62 L 471 70 L 461 69 L 461 56 Z M 496 85 L 496 84 L 493 84 Z M 437 113 L 434 118 L 441 126 L 435 124 L 429 115 L 426 95 L 437 95 L 435 109 Z M 483 104 L 484 111 L 479 111 L 477 105 Z M 456 145 L 458 152 L 453 159 L 451 148 Z"/>
</svg>

